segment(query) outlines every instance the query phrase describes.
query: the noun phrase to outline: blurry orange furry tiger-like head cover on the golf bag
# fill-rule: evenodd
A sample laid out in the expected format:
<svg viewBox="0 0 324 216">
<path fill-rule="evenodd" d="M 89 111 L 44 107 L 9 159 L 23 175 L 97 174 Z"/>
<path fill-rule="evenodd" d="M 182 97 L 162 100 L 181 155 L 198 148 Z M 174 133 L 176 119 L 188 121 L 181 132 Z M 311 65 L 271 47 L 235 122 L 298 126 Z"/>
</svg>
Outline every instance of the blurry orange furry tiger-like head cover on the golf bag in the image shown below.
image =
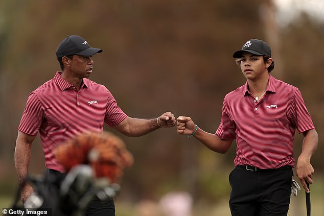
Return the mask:
<svg viewBox="0 0 324 216">
<path fill-rule="evenodd" d="M 96 178 L 108 178 L 111 183 L 121 180 L 123 170 L 133 164 L 133 156 L 124 141 L 109 132 L 84 134 L 66 145 L 59 146 L 56 157 L 66 172 L 78 164 L 89 164 Z"/>
</svg>

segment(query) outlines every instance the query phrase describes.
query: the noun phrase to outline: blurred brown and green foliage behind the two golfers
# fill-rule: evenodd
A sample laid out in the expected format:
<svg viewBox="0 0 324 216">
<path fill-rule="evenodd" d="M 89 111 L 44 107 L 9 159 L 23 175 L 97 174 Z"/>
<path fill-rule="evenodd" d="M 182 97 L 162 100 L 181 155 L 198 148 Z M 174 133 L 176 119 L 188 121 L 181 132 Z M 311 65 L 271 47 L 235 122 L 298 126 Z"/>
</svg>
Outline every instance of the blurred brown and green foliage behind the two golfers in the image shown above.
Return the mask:
<svg viewBox="0 0 324 216">
<path fill-rule="evenodd" d="M 270 0 L 1 1 L 1 194 L 10 201 L 17 187 L 13 154 L 27 97 L 60 70 L 55 51 L 69 34 L 104 50 L 93 58 L 91 79 L 104 84 L 129 116 L 151 118 L 172 111 L 191 116 L 211 133 L 220 122 L 225 94 L 245 83 L 233 52 L 251 38 L 267 41 L 276 64 L 271 74 L 300 89 L 313 117 L 319 134 L 314 179 L 323 179 L 324 24 L 302 13 L 283 26 L 277 11 Z M 235 142 L 220 155 L 177 135 L 175 128 L 137 138 L 117 135 L 135 157 L 118 203 L 157 201 L 173 190 L 188 191 L 195 203 L 205 205 L 228 199 Z M 302 139 L 296 134 L 295 159 Z M 43 170 L 37 137 L 30 173 Z"/>
</svg>

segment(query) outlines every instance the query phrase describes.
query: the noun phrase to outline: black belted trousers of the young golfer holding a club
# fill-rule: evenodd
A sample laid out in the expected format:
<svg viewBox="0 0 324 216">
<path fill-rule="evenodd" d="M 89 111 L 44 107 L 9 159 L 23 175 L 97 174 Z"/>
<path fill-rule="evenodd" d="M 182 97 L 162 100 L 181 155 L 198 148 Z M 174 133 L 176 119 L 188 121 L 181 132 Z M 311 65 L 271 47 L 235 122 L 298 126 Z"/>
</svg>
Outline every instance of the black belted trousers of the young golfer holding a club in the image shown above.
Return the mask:
<svg viewBox="0 0 324 216">
<path fill-rule="evenodd" d="M 230 212 L 233 216 L 287 216 L 292 175 L 291 166 L 266 171 L 236 166 L 229 174 Z"/>
</svg>

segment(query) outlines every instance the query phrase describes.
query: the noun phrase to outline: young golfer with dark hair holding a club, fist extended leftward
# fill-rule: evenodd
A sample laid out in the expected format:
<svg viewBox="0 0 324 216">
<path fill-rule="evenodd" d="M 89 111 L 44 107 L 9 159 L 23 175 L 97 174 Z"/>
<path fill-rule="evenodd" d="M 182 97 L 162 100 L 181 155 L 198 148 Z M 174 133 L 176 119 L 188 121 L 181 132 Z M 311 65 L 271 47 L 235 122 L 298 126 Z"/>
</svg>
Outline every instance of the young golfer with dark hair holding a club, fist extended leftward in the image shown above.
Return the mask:
<svg viewBox="0 0 324 216">
<path fill-rule="evenodd" d="M 236 139 L 236 167 L 229 174 L 232 215 L 287 215 L 295 130 L 304 135 L 296 171 L 308 193 L 306 181 L 312 183 L 310 160 L 317 148 L 317 132 L 299 89 L 270 75 L 274 61 L 268 44 L 250 39 L 233 57 L 247 81 L 226 94 L 216 133 L 203 131 L 186 116 L 178 117 L 177 132 L 194 136 L 222 154 Z"/>
</svg>

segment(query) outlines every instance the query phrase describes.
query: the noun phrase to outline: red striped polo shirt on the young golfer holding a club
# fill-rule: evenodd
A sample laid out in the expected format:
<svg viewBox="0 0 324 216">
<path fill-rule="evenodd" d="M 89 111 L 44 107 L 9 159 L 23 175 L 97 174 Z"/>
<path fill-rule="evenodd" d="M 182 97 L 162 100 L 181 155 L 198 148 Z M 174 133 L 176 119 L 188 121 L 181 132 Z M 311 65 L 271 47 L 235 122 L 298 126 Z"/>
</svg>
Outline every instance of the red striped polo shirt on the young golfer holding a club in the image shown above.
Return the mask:
<svg viewBox="0 0 324 216">
<path fill-rule="evenodd" d="M 276 169 L 294 166 L 296 129 L 298 133 L 314 129 L 302 94 L 269 75 L 266 93 L 259 102 L 248 91 L 247 82 L 226 94 L 215 134 L 221 139 L 236 139 L 235 165 Z"/>
</svg>

